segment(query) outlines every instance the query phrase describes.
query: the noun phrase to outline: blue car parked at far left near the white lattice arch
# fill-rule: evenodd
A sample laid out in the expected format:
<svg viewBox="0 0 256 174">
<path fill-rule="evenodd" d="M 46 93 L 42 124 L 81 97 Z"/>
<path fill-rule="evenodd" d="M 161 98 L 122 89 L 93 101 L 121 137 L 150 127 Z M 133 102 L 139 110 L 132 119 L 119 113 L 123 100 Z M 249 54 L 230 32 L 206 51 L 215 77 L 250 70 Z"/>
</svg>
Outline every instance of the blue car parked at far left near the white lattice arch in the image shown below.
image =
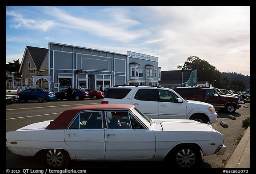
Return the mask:
<svg viewBox="0 0 256 174">
<path fill-rule="evenodd" d="M 49 92 L 47 89 L 43 88 L 32 88 L 26 89 L 19 93 L 19 101 L 52 101 L 56 100 L 54 92 Z"/>
</svg>

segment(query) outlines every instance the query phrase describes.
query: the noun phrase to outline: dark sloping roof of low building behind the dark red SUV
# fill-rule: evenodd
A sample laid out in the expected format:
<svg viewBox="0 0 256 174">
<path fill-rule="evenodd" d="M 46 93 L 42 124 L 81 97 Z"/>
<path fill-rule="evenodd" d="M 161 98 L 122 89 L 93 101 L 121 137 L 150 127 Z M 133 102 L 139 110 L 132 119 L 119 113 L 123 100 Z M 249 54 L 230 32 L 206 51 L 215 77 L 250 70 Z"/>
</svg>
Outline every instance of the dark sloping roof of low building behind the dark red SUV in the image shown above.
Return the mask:
<svg viewBox="0 0 256 174">
<path fill-rule="evenodd" d="M 172 70 L 172 71 L 161 71 L 160 84 L 181 84 L 189 80 L 191 73 L 195 70 Z M 183 75 L 182 75 L 183 72 Z M 183 77 L 182 77 L 183 76 Z"/>
</svg>

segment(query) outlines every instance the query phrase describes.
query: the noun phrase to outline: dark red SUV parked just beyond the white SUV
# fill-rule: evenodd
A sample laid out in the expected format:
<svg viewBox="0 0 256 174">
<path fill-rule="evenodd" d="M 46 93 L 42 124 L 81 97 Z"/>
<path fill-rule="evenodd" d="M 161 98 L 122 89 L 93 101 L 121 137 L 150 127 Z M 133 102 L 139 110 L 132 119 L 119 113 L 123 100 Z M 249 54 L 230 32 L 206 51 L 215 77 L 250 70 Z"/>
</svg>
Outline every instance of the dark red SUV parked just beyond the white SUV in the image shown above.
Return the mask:
<svg viewBox="0 0 256 174">
<path fill-rule="evenodd" d="M 203 101 L 212 104 L 215 109 L 224 109 L 228 113 L 241 108 L 238 97 L 222 95 L 209 87 L 177 87 L 175 91 L 186 100 Z"/>
</svg>

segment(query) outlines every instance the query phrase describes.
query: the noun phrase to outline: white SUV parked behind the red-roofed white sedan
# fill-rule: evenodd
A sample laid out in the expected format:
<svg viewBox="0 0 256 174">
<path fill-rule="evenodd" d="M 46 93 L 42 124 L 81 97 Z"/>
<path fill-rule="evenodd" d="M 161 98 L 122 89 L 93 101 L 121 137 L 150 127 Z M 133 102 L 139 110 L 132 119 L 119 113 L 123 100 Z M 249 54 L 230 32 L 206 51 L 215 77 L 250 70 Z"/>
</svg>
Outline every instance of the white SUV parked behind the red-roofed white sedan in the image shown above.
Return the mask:
<svg viewBox="0 0 256 174">
<path fill-rule="evenodd" d="M 156 119 L 191 119 L 212 124 L 218 116 L 212 104 L 185 101 L 174 90 L 160 86 L 112 86 L 101 104 L 133 104 L 146 116 Z"/>
</svg>

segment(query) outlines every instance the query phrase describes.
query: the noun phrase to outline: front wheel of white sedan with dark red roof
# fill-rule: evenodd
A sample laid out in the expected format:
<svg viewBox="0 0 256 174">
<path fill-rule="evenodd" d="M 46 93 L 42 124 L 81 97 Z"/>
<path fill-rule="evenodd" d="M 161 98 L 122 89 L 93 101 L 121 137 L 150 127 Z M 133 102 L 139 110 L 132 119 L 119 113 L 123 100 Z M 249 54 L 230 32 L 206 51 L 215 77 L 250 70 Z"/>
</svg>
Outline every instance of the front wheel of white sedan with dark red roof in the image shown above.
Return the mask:
<svg viewBox="0 0 256 174">
<path fill-rule="evenodd" d="M 200 164 L 201 159 L 200 150 L 192 145 L 179 146 L 171 155 L 171 162 L 179 168 L 194 168 Z"/>
</svg>

